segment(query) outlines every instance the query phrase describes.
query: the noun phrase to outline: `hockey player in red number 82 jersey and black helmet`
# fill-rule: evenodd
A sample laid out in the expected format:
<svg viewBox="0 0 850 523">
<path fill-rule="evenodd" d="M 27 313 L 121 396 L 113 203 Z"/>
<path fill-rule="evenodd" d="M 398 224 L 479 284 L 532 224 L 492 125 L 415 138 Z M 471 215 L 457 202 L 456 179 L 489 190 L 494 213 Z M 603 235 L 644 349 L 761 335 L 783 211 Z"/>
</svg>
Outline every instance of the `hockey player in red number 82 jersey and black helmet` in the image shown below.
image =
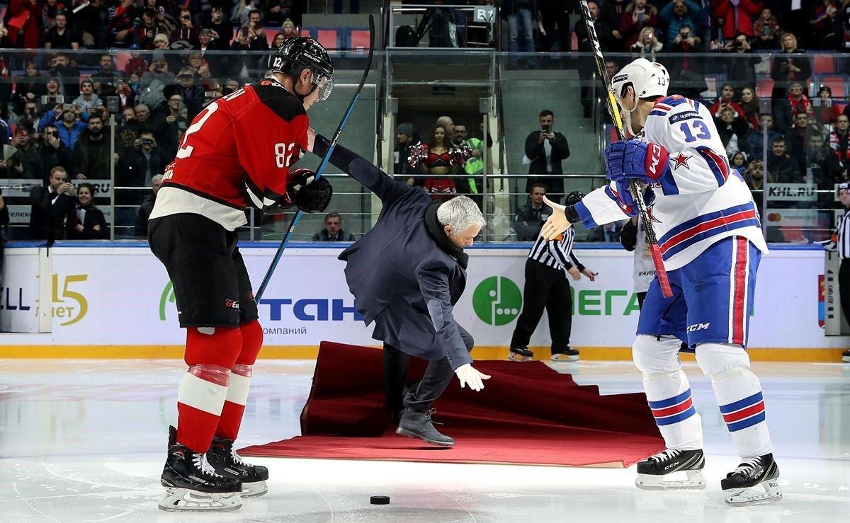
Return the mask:
<svg viewBox="0 0 850 523">
<path fill-rule="evenodd" d="M 307 149 L 307 110 L 326 99 L 333 67 L 311 38 L 287 40 L 260 82 L 218 98 L 186 129 L 150 214 L 150 250 L 165 265 L 186 329 L 178 425 L 169 433 L 159 506 L 216 511 L 268 491 L 265 467 L 233 449 L 263 344 L 235 229 L 247 205 L 324 211 L 326 178 L 290 167 Z"/>
</svg>

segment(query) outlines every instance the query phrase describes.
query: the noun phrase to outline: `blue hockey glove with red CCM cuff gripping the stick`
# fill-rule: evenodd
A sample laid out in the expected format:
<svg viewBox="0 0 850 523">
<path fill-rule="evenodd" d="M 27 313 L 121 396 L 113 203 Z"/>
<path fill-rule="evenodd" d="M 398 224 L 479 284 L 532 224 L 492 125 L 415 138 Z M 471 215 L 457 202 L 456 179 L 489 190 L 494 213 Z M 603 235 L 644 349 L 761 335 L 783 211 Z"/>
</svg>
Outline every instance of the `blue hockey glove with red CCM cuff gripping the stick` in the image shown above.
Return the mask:
<svg viewBox="0 0 850 523">
<path fill-rule="evenodd" d="M 605 174 L 615 182 L 638 180 L 655 183 L 670 167 L 667 149 L 657 143 L 622 140 L 605 148 Z"/>
</svg>

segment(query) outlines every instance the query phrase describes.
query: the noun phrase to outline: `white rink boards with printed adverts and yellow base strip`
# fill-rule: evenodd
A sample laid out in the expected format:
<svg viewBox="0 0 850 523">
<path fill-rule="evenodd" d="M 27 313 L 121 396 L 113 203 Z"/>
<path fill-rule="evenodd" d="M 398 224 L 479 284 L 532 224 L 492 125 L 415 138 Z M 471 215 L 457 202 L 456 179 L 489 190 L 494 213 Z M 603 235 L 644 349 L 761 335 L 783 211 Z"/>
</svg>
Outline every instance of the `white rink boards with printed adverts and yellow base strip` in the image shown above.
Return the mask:
<svg viewBox="0 0 850 523">
<path fill-rule="evenodd" d="M 477 357 L 499 357 L 507 349 L 522 309 L 528 245 L 493 246 L 469 250 L 467 290 L 455 307 L 456 320 L 479 347 Z M 571 343 L 588 359 L 630 357 L 626 347 L 637 325 L 638 301 L 632 292 L 632 254 L 616 247 L 577 250 L 598 273 L 596 282 L 571 282 Z M 274 248 L 244 244 L 241 250 L 257 285 Z M 337 260 L 341 250 L 308 244 L 286 250 L 258 307 L 265 357 L 311 357 L 321 340 L 377 345 L 348 292 L 344 264 Z M 757 359 L 834 361 L 837 348 L 847 346 L 846 337 L 824 334 L 831 308 L 822 290 L 824 272 L 823 251 L 811 247 L 775 248 L 762 258 L 750 345 L 770 347 L 772 356 Z M 3 335 L 0 357 L 182 355 L 184 331 L 178 328 L 171 285 L 144 244 L 68 243 L 54 246 L 49 256 L 43 247 L 8 248 L 0 309 L 0 328 L 22 333 Z M 544 315 L 531 340 L 543 351 L 547 322 Z"/>
</svg>

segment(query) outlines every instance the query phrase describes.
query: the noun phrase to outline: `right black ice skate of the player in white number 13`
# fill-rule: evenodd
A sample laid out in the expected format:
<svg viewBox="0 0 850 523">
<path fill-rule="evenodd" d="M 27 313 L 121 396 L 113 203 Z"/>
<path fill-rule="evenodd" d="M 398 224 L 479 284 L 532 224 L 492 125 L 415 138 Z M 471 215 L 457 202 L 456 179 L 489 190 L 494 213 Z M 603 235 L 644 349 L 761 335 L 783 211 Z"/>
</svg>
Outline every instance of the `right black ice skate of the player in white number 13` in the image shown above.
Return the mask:
<svg viewBox="0 0 850 523">
<path fill-rule="evenodd" d="M 761 485 L 764 492 L 752 489 Z M 782 499 L 779 490 L 779 467 L 774 454 L 764 454 L 756 458 L 745 458 L 738 468 L 729 472 L 720 481 L 726 494 L 726 504 L 730 507 L 742 507 L 758 503 L 771 503 Z"/>
</svg>

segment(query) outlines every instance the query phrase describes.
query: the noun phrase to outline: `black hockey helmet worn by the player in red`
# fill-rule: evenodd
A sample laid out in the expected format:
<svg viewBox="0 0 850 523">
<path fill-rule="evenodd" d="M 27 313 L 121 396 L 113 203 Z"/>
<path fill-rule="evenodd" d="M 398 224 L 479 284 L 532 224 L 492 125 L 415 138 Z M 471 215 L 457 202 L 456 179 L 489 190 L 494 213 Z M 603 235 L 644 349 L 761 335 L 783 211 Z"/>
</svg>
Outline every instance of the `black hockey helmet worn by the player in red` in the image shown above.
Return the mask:
<svg viewBox="0 0 850 523">
<path fill-rule="evenodd" d="M 321 85 L 319 99 L 326 100 L 331 96 L 333 65 L 331 57 L 319 42 L 309 37 L 292 37 L 281 43 L 272 55 L 271 72 L 297 78 L 305 69 L 313 71 L 313 91 L 325 80 L 324 85 Z"/>
</svg>

